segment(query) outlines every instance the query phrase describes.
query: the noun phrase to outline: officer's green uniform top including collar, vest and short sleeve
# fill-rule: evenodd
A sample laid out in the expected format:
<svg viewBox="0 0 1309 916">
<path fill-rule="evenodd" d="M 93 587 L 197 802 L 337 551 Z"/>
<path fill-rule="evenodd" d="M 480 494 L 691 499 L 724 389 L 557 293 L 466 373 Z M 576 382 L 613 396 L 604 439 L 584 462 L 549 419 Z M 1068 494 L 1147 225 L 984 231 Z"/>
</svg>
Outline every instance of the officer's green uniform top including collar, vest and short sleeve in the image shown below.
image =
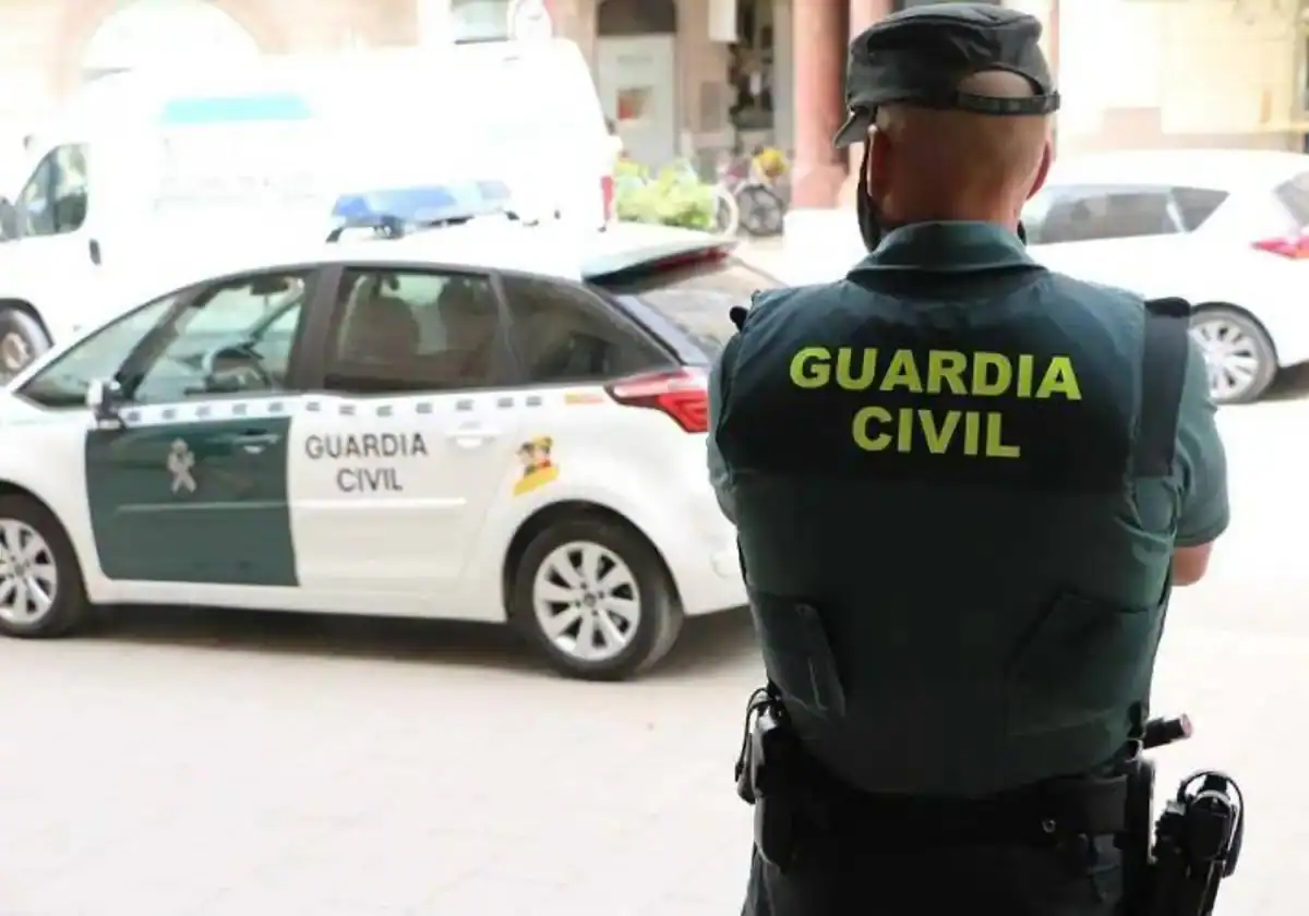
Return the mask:
<svg viewBox="0 0 1309 916">
<path fill-rule="evenodd" d="M 1194 348 L 1175 461 L 1134 472 L 1145 314 L 969 222 L 758 297 L 711 383 L 712 476 L 768 675 L 852 785 L 988 794 L 1123 746 L 1173 550 L 1228 522 Z"/>
</svg>

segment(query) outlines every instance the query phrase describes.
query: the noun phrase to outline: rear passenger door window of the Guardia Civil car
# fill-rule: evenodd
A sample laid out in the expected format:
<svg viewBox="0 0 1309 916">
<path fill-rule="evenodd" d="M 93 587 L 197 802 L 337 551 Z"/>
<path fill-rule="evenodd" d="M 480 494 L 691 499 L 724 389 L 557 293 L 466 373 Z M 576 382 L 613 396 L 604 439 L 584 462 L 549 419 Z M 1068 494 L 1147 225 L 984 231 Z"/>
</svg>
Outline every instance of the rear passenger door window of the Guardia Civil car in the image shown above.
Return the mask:
<svg viewBox="0 0 1309 916">
<path fill-rule="evenodd" d="M 351 268 L 342 275 L 326 362 L 330 390 L 452 391 L 503 383 L 491 277 Z"/>
</svg>

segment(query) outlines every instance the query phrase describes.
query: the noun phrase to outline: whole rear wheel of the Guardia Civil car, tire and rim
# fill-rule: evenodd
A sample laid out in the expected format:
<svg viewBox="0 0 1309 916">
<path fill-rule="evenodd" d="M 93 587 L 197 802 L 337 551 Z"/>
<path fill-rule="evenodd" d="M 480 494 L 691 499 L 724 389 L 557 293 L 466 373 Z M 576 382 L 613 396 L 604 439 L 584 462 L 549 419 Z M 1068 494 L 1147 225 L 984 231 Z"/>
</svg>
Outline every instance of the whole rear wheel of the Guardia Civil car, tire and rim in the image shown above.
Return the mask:
<svg viewBox="0 0 1309 916">
<path fill-rule="evenodd" d="M 645 538 L 609 518 L 565 518 L 533 538 L 512 598 L 513 619 L 550 665 L 584 680 L 624 680 L 651 669 L 682 629 L 664 561 Z"/>
</svg>

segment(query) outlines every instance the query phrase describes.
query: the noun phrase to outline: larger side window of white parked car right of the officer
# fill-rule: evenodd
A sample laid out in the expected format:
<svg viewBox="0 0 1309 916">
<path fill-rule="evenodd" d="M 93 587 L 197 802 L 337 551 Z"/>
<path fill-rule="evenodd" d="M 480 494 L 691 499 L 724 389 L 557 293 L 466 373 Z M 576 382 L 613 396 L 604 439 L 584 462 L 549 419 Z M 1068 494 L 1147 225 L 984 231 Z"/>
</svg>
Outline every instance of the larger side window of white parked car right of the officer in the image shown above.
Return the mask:
<svg viewBox="0 0 1309 916">
<path fill-rule="evenodd" d="M 1034 200 L 1033 204 L 1035 203 Z M 1172 236 L 1181 232 L 1166 188 L 1084 187 L 1077 191 L 1051 191 L 1049 200 L 1042 202 L 1043 213 L 1029 225 L 1028 212 L 1039 212 L 1033 204 L 1024 213 L 1024 226 L 1033 245 Z"/>
</svg>

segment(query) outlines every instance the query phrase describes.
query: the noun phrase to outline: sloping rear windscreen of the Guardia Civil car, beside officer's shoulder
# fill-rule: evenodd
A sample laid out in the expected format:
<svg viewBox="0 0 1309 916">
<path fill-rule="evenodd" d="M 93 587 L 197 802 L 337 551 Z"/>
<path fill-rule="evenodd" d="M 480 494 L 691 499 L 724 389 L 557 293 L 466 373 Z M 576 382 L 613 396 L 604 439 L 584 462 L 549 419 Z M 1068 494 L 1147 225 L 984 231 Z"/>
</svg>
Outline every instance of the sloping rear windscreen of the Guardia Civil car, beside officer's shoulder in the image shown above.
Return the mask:
<svg viewBox="0 0 1309 916">
<path fill-rule="evenodd" d="M 618 296 L 640 300 L 713 356 L 736 334 L 736 326 L 728 317 L 730 309 L 749 306 L 750 298 L 761 289 L 776 289 L 784 284 L 736 258 L 725 258 L 653 270 L 639 280 L 601 285 Z"/>
</svg>

